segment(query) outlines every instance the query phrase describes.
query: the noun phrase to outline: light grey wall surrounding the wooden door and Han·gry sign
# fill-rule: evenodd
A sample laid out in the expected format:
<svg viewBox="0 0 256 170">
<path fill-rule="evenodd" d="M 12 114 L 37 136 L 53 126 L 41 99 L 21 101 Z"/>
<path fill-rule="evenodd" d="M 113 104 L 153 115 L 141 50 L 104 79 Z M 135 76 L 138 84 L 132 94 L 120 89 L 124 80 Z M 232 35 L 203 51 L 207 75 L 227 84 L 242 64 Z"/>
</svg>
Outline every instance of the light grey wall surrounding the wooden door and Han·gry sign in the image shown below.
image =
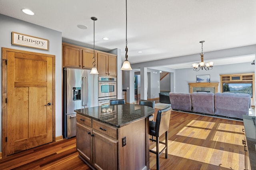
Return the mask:
<svg viewBox="0 0 256 170">
<path fill-rule="evenodd" d="M 36 53 L 45 53 L 55 55 L 55 114 L 56 114 L 56 136 L 62 135 L 62 33 L 51 30 L 45 27 L 41 27 L 35 24 L 24 22 L 15 18 L 4 16 L 0 14 L 0 52 L 2 53 L 2 47 L 19 49 L 24 51 L 32 51 Z M 12 45 L 12 32 L 18 32 L 30 36 L 44 38 L 49 40 L 49 51 L 34 49 L 29 47 L 22 47 L 18 45 Z M 1 55 L 2 58 L 2 55 Z M 1 60 L 2 61 L 2 60 Z M 2 79 L 2 69 L 0 69 L 0 76 Z M 2 85 L 0 88 L 2 94 Z M 2 103 L 2 98 L 0 98 Z M 0 117 L 0 136 L 2 136 L 2 116 Z M 2 152 L 2 137 L 0 138 L 0 152 Z"/>
</svg>

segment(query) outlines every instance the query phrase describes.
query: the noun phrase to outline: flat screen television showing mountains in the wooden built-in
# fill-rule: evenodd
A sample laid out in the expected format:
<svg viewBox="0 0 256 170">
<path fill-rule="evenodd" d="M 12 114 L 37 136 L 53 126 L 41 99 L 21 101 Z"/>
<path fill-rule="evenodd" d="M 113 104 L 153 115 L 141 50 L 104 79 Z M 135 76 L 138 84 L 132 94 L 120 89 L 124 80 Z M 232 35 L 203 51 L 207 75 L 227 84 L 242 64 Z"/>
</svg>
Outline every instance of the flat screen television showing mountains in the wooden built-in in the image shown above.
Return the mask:
<svg viewBox="0 0 256 170">
<path fill-rule="evenodd" d="M 252 97 L 252 83 L 223 83 L 222 92 L 245 93 Z"/>
</svg>

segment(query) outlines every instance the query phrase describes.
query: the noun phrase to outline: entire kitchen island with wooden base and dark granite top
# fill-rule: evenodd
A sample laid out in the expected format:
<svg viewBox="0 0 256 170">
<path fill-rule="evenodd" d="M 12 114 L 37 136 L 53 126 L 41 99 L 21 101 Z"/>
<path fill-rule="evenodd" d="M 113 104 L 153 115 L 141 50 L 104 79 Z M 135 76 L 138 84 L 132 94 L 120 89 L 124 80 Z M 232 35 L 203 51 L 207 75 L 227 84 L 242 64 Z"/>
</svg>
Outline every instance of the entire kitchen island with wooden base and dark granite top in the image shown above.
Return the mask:
<svg viewBox="0 0 256 170">
<path fill-rule="evenodd" d="M 149 169 L 148 106 L 102 105 L 77 109 L 76 148 L 93 169 Z"/>
</svg>

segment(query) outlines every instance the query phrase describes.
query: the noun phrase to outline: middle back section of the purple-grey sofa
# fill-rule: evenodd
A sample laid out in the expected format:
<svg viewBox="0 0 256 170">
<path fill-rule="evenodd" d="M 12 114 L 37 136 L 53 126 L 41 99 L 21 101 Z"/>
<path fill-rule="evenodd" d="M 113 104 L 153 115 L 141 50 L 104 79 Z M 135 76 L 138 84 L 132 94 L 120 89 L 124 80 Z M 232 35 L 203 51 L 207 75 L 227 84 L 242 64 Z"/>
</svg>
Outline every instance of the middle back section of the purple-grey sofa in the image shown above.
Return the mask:
<svg viewBox="0 0 256 170">
<path fill-rule="evenodd" d="M 192 111 L 214 115 L 214 93 L 191 93 Z"/>
</svg>

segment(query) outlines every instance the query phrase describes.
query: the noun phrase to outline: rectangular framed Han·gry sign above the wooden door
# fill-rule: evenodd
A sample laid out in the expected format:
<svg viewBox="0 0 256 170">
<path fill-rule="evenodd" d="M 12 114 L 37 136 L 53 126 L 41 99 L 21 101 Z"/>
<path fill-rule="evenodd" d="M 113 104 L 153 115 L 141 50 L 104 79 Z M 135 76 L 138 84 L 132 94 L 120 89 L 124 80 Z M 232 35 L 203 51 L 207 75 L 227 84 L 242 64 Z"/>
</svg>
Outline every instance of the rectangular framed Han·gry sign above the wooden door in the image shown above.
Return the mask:
<svg viewBox="0 0 256 170">
<path fill-rule="evenodd" d="M 49 50 L 49 40 L 12 32 L 12 44 L 24 47 Z"/>
</svg>

